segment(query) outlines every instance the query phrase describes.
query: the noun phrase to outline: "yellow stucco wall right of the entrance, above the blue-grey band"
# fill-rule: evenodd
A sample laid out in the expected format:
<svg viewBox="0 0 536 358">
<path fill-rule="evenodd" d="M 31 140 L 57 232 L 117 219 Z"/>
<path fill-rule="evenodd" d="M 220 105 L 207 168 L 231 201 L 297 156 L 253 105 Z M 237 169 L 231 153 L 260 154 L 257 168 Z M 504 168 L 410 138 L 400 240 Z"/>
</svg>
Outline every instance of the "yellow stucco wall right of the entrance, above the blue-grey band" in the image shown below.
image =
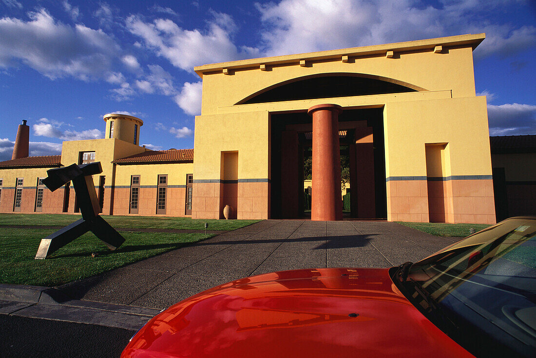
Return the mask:
<svg viewBox="0 0 536 358">
<path fill-rule="evenodd" d="M 425 143 L 448 143 L 445 174 L 491 175 L 485 97 L 385 105 L 387 177 L 426 176 Z"/>
</svg>

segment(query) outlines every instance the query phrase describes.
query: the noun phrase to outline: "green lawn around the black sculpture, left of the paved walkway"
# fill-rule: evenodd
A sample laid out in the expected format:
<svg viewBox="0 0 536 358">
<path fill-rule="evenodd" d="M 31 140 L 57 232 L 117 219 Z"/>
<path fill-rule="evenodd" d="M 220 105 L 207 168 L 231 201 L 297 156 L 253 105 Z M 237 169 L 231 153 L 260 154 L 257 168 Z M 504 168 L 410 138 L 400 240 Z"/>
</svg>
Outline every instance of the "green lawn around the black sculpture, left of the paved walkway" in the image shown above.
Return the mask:
<svg viewBox="0 0 536 358">
<path fill-rule="evenodd" d="M 258 220 L 191 220 L 176 217 L 104 216 L 116 228 L 233 230 Z M 54 233 L 49 229 L 12 229 L 8 225 L 63 226 L 76 221 L 77 215 L 0 214 L 0 283 L 59 286 L 84 279 L 132 262 L 177 249 L 214 235 L 204 232 L 121 232 L 125 242 L 110 251 L 89 232 L 44 260 L 35 260 L 42 238 Z M 123 220 L 122 220 L 123 219 Z M 4 227 L 2 227 L 4 225 Z M 96 257 L 92 257 L 96 253 Z"/>
</svg>

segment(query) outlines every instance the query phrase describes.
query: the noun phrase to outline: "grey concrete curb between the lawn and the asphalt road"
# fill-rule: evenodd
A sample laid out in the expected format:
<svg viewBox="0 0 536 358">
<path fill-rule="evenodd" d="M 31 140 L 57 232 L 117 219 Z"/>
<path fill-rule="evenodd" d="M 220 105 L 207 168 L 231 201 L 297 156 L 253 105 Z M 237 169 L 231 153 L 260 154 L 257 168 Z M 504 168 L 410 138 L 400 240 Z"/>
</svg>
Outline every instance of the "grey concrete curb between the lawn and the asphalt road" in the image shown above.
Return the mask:
<svg viewBox="0 0 536 358">
<path fill-rule="evenodd" d="M 71 299 L 56 288 L 0 284 L 0 315 L 137 331 L 160 310 Z"/>
</svg>

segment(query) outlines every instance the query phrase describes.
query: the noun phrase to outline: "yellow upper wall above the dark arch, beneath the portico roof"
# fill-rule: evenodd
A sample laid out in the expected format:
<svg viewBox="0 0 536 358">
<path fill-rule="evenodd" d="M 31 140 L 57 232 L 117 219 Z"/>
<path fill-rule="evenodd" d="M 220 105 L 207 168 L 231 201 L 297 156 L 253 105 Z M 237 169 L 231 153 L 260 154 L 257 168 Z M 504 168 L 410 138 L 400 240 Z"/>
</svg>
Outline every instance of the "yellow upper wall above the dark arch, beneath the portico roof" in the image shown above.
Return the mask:
<svg viewBox="0 0 536 358">
<path fill-rule="evenodd" d="M 456 37 L 456 36 L 454 36 Z M 483 36 L 481 36 L 483 38 Z M 441 39 L 435 39 L 438 42 Z M 430 40 L 431 41 L 431 40 Z M 413 41 L 415 43 L 419 41 Z M 445 47 L 442 53 L 434 53 L 434 46 L 424 49 L 405 49 L 387 58 L 385 52 L 369 54 L 357 49 L 355 59 L 342 62 L 340 57 L 325 60 L 330 51 L 303 54 L 307 67 L 301 67 L 299 61 L 269 66 L 270 70 L 258 69 L 258 63 L 277 62 L 279 58 L 299 58 L 300 55 L 270 57 L 250 61 L 247 68 L 239 68 L 225 75 L 217 69 L 239 65 L 241 61 L 214 64 L 196 68 L 203 73 L 202 114 L 214 114 L 219 108 L 233 106 L 242 99 L 258 91 L 291 79 L 314 76 L 317 74 L 362 74 L 380 76 L 388 81 L 406 84 L 422 91 L 451 91 L 452 97 L 468 97 L 475 95 L 472 48 Z M 361 55 L 361 56 L 360 56 Z M 281 60 L 282 61 L 282 60 Z M 290 61 L 290 60 L 289 60 Z M 222 90 L 225 89 L 225 90 Z M 330 102 L 331 103 L 331 102 Z"/>
</svg>

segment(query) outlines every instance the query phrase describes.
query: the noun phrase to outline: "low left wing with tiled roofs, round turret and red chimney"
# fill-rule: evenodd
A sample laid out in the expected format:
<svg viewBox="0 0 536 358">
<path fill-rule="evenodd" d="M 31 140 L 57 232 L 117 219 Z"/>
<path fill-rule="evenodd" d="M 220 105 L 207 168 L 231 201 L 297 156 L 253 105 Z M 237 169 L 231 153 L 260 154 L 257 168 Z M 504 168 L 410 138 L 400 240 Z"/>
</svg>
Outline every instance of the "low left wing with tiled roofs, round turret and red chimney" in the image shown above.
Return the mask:
<svg viewBox="0 0 536 358">
<path fill-rule="evenodd" d="M 142 120 L 114 113 L 104 120 L 104 139 L 63 142 L 61 155 L 42 157 L 27 156 L 28 135 L 19 134 L 29 127 L 19 125 L 13 159 L 0 162 L 0 212 L 78 213 L 72 185 L 50 192 L 41 180 L 53 167 L 98 161 L 93 182 L 103 214 L 189 215 L 193 150 L 148 150 L 138 144 Z"/>
</svg>

